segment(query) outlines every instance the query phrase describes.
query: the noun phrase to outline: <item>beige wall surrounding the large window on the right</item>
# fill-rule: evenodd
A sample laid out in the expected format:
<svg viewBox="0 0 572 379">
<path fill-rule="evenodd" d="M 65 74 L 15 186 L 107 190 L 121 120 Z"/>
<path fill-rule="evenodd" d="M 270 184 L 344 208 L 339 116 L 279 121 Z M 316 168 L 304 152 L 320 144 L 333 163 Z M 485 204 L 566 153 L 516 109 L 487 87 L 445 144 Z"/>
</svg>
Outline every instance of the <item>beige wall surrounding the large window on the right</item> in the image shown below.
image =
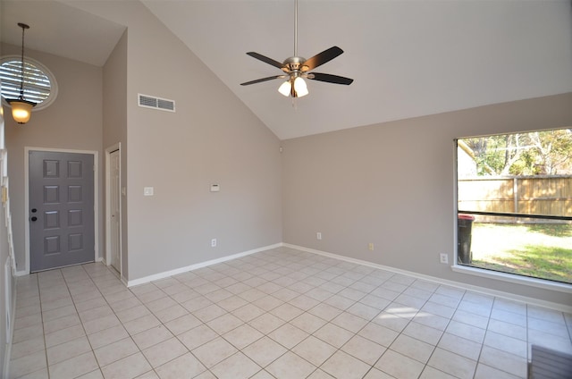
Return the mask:
<svg viewBox="0 0 572 379">
<path fill-rule="evenodd" d="M 566 94 L 283 141 L 283 240 L 572 304 L 569 293 L 458 274 L 439 263 L 440 253 L 452 262 L 456 246 L 454 139 L 570 127 L 571 105 Z"/>
</svg>

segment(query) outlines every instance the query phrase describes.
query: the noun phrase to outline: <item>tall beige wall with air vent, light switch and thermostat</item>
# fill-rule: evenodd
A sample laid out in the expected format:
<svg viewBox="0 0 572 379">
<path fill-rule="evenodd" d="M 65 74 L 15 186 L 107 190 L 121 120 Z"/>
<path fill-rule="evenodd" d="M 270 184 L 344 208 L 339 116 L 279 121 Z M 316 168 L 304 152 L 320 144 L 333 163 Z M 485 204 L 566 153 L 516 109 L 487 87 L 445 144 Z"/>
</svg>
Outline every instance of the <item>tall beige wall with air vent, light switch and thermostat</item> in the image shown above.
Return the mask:
<svg viewBox="0 0 572 379">
<path fill-rule="evenodd" d="M 128 28 L 123 274 L 133 281 L 281 242 L 279 139 L 143 4 L 71 4 Z M 175 100 L 177 112 L 140 108 L 138 93 Z"/>
</svg>

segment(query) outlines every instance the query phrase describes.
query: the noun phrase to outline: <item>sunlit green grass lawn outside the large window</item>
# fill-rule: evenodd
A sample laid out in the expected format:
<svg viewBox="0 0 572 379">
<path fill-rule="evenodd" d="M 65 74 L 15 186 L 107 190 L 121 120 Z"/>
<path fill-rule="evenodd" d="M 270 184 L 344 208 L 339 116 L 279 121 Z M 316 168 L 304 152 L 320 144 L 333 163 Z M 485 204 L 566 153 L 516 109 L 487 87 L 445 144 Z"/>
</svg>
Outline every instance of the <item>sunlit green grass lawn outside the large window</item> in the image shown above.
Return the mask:
<svg viewBox="0 0 572 379">
<path fill-rule="evenodd" d="M 473 223 L 473 265 L 572 283 L 572 224 Z"/>
</svg>

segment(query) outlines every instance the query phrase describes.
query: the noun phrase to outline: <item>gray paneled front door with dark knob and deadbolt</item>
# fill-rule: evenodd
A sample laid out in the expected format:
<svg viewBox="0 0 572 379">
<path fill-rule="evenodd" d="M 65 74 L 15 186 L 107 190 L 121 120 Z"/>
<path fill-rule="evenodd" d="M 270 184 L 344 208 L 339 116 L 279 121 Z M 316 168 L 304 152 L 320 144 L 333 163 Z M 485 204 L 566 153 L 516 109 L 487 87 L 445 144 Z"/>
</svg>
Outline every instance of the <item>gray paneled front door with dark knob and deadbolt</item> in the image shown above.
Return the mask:
<svg viewBox="0 0 572 379">
<path fill-rule="evenodd" d="M 29 151 L 32 273 L 95 260 L 93 187 L 93 155 Z"/>
</svg>

